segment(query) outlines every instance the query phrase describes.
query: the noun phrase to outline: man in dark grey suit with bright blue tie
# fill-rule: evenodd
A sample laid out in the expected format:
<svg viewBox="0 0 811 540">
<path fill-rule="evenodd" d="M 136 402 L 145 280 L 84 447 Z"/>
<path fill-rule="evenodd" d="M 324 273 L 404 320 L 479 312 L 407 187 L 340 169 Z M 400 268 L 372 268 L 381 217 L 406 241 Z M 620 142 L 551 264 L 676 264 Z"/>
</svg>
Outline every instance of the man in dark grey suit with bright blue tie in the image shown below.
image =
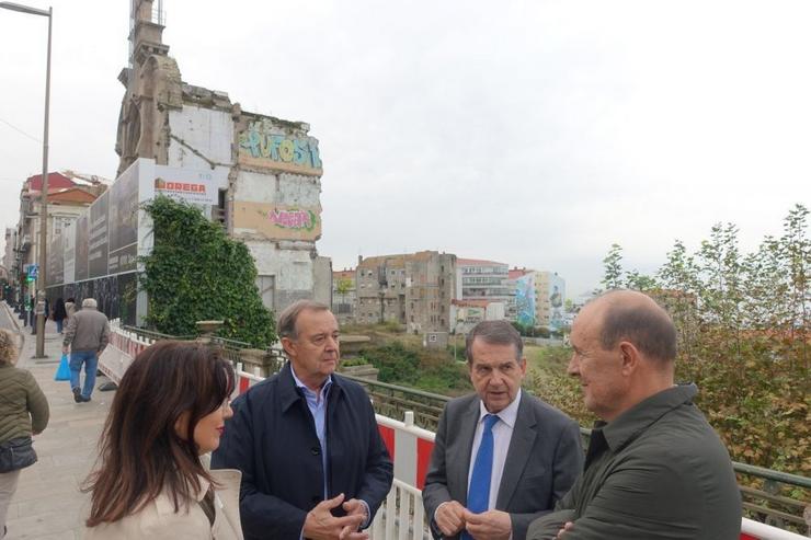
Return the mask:
<svg viewBox="0 0 811 540">
<path fill-rule="evenodd" d="M 521 390 L 523 348 L 506 321 L 468 334 L 477 393 L 446 405 L 422 492 L 434 538 L 524 540 L 580 474 L 578 424 Z"/>
</svg>

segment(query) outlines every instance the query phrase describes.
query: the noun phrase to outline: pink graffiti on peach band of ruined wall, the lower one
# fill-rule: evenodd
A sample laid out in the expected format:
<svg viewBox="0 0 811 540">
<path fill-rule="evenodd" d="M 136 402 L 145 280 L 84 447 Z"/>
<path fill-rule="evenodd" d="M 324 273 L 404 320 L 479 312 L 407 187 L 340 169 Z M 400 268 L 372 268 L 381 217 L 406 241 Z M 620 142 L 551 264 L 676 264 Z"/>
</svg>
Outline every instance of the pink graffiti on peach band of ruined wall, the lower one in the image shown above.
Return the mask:
<svg viewBox="0 0 811 540">
<path fill-rule="evenodd" d="M 259 234 L 267 240 L 318 240 L 321 237 L 321 208 L 236 202 L 236 233 Z"/>
</svg>

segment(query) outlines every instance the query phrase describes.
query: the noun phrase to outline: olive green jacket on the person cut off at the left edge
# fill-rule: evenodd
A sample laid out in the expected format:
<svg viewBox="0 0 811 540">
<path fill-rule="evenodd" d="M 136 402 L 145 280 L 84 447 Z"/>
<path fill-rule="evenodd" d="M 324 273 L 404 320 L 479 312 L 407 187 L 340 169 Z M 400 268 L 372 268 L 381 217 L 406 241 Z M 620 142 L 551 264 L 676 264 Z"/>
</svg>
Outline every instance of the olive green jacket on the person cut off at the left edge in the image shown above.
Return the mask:
<svg viewBox="0 0 811 540">
<path fill-rule="evenodd" d="M 41 433 L 49 414 L 48 400 L 31 372 L 0 365 L 0 443 Z"/>
</svg>

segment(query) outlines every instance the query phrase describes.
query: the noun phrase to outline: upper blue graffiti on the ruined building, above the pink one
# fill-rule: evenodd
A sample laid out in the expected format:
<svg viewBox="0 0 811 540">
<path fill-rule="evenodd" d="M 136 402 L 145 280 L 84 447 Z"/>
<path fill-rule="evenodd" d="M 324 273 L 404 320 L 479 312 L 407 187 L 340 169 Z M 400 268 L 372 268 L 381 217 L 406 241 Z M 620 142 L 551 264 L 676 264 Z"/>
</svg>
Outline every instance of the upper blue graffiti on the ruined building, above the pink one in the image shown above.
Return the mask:
<svg viewBox="0 0 811 540">
<path fill-rule="evenodd" d="M 251 122 L 239 135 L 239 162 L 279 171 L 320 176 L 321 157 L 315 137 L 278 133 L 270 122 Z"/>
</svg>

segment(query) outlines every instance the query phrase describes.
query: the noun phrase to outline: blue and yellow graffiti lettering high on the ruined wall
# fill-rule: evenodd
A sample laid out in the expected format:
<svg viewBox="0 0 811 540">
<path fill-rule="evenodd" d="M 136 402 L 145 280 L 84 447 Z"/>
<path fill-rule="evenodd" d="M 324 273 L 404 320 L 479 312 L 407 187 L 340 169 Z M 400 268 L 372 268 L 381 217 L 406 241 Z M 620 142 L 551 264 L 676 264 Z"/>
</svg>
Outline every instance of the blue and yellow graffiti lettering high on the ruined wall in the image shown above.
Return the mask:
<svg viewBox="0 0 811 540">
<path fill-rule="evenodd" d="M 252 158 L 292 163 L 308 169 L 321 169 L 321 157 L 316 138 L 296 139 L 269 134 L 260 122 L 251 123 L 248 129 L 239 136 L 239 148 Z"/>
</svg>

